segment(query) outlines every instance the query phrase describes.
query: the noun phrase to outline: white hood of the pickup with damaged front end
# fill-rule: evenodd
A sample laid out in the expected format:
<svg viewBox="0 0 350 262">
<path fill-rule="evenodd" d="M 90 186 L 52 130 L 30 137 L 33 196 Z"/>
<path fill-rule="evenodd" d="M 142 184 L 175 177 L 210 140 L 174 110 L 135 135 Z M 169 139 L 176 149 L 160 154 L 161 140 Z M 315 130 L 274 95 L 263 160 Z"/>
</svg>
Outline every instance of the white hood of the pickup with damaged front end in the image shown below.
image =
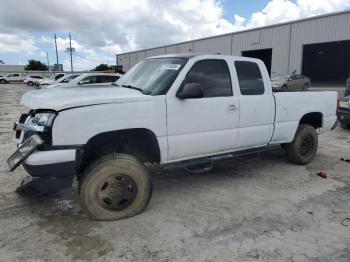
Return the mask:
<svg viewBox="0 0 350 262">
<path fill-rule="evenodd" d="M 123 87 L 57 87 L 27 92 L 22 96 L 21 104 L 30 109 L 60 111 L 72 107 L 150 100 L 148 95 Z"/>
</svg>

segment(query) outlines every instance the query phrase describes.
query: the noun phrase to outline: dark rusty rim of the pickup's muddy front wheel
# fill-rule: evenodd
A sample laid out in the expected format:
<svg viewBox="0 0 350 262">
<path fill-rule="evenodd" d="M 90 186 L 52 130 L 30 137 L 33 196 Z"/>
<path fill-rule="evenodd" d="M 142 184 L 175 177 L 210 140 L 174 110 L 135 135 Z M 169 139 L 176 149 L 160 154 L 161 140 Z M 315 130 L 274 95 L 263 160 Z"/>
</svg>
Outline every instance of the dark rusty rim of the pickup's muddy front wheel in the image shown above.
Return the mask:
<svg viewBox="0 0 350 262">
<path fill-rule="evenodd" d="M 104 179 L 98 188 L 99 203 L 106 209 L 118 211 L 134 202 L 137 194 L 135 181 L 128 175 L 116 174 Z"/>
</svg>

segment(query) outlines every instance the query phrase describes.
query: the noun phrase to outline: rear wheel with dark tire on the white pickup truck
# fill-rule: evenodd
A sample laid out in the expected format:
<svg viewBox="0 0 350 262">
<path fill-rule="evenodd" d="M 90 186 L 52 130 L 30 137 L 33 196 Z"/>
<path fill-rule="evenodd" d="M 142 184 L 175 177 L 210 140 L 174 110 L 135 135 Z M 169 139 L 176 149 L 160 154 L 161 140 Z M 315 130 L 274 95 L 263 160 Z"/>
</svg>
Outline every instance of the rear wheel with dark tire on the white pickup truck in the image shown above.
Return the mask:
<svg viewBox="0 0 350 262">
<path fill-rule="evenodd" d="M 316 154 L 318 137 L 313 126 L 300 124 L 292 143 L 286 144 L 288 160 L 299 165 L 306 165 Z"/>
</svg>

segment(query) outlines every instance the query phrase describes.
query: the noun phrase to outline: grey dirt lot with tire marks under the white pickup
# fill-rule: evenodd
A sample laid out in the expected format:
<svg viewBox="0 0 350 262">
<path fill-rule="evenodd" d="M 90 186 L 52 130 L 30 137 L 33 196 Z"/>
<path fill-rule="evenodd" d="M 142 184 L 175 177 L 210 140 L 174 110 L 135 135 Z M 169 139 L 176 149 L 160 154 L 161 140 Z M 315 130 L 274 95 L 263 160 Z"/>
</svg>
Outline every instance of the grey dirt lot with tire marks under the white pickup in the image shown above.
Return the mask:
<svg viewBox="0 0 350 262">
<path fill-rule="evenodd" d="M 0 85 L 0 163 L 15 148 L 12 123 L 30 89 Z M 307 166 L 274 151 L 204 174 L 155 174 L 145 212 L 114 222 L 88 220 L 76 185 L 51 198 L 17 195 L 24 170 L 2 166 L 0 261 L 349 262 L 350 163 L 340 158 L 350 158 L 350 131 L 337 128 L 319 144 Z"/>
</svg>

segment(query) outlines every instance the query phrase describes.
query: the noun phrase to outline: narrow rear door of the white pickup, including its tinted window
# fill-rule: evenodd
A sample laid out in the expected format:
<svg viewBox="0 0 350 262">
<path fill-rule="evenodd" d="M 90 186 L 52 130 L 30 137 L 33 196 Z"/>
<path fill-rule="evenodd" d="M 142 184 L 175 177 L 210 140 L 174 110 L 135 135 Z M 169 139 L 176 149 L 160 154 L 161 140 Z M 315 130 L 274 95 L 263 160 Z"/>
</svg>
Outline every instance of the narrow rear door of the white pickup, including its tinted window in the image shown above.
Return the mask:
<svg viewBox="0 0 350 262">
<path fill-rule="evenodd" d="M 266 68 L 263 63 L 253 61 L 235 61 L 234 64 L 241 93 L 238 147 L 266 145 L 273 133 L 275 113 L 271 87 L 266 82 Z"/>
</svg>

